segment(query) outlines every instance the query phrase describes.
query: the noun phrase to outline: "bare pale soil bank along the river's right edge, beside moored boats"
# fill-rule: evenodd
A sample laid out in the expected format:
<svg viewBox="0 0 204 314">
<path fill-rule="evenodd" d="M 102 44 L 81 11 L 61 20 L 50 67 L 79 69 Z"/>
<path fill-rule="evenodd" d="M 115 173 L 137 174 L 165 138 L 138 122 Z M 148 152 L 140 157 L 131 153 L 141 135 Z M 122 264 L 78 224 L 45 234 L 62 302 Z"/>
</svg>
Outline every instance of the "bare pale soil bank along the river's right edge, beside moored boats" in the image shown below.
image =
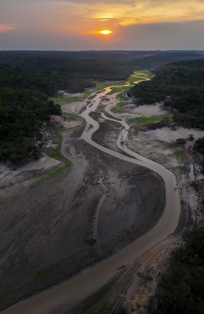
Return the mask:
<svg viewBox="0 0 204 314">
<path fill-rule="evenodd" d="M 155 107 L 141 108 L 141 115 L 155 115 Z M 157 108 L 158 109 L 158 108 Z M 135 110 L 135 109 L 134 109 Z M 140 110 L 140 109 L 139 109 Z M 156 115 L 162 113 L 158 111 Z M 131 113 L 132 114 L 132 113 Z M 121 115 L 120 115 L 121 116 Z M 185 145 L 179 145 L 177 138 L 187 138 L 193 134 L 194 140 L 187 141 Z M 120 313 L 121 308 L 125 308 L 127 313 L 137 311 L 139 313 L 149 313 L 156 310 L 155 299 L 151 298 L 157 290 L 161 281 L 161 273 L 166 269 L 166 263 L 170 251 L 182 243 L 182 235 L 188 233 L 196 226 L 203 226 L 203 179 L 200 172 L 199 156 L 195 156 L 192 146 L 195 140 L 203 137 L 204 132 L 195 129 L 185 129 L 183 127 L 171 130 L 162 128 L 134 133 L 133 129 L 128 132 L 126 146 L 131 150 L 161 163 L 165 167 L 176 170 L 177 186 L 181 200 L 180 222 L 176 230 L 159 241 L 132 262 L 128 268 L 116 277 L 116 284 L 104 298 L 99 299 L 94 304 L 90 304 L 88 310 L 83 311 L 83 303 L 78 306 L 78 312 L 87 314 L 103 309 L 108 313 Z M 198 190 L 191 187 L 191 181 L 200 182 Z M 139 310 L 137 307 L 140 307 Z"/>
</svg>

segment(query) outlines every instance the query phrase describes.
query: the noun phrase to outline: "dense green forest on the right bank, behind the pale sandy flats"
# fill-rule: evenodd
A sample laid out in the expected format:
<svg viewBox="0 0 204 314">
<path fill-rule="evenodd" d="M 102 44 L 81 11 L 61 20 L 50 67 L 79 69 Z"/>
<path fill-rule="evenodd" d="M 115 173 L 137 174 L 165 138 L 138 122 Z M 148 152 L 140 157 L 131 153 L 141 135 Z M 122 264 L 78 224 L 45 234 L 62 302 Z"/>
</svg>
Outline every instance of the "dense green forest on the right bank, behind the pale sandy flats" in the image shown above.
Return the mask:
<svg viewBox="0 0 204 314">
<path fill-rule="evenodd" d="M 179 111 L 174 114 L 176 123 L 204 129 L 204 59 L 163 65 L 151 81 L 131 91 L 138 104 L 164 101 L 164 106 Z"/>
</svg>

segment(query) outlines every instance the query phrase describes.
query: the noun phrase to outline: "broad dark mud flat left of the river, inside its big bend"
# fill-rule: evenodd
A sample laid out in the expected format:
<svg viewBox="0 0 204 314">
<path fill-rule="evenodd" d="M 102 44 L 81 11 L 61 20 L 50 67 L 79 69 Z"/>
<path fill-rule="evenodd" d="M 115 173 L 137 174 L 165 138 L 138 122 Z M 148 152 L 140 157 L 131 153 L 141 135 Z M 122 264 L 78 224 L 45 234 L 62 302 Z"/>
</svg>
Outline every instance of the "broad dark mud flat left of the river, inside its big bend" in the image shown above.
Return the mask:
<svg viewBox="0 0 204 314">
<path fill-rule="evenodd" d="M 53 263 L 51 276 L 26 295 L 62 281 L 133 241 L 162 214 L 160 177 L 85 143 L 79 139 L 83 129 L 64 132 L 62 153 L 73 163 L 70 174 L 33 189 L 1 191 L 1 293 Z M 15 301 L 22 295 L 15 289 Z"/>
</svg>

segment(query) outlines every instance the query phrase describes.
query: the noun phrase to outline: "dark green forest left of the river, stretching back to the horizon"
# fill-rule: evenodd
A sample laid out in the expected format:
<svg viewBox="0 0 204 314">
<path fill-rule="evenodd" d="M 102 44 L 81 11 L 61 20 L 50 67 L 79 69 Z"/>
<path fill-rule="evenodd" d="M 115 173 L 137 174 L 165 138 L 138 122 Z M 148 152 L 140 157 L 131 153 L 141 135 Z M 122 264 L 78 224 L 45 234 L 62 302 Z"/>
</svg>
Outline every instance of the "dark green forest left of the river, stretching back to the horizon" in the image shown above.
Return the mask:
<svg viewBox="0 0 204 314">
<path fill-rule="evenodd" d="M 48 101 L 57 91 L 83 92 L 95 86 L 91 79 L 123 80 L 135 68 L 198 57 L 186 51 L 0 51 L 0 160 L 39 154 L 42 121 L 61 114 Z"/>
</svg>

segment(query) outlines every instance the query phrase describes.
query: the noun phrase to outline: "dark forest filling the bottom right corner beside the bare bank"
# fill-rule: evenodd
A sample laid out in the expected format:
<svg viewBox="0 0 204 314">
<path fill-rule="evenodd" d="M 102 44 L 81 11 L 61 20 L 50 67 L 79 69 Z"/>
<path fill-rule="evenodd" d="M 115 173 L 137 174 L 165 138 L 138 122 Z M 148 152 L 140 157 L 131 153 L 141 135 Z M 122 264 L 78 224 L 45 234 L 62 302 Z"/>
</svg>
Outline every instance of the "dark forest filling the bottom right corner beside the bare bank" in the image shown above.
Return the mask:
<svg viewBox="0 0 204 314">
<path fill-rule="evenodd" d="M 185 245 L 172 252 L 170 268 L 159 288 L 152 314 L 204 313 L 204 228 L 194 230 Z"/>
</svg>

